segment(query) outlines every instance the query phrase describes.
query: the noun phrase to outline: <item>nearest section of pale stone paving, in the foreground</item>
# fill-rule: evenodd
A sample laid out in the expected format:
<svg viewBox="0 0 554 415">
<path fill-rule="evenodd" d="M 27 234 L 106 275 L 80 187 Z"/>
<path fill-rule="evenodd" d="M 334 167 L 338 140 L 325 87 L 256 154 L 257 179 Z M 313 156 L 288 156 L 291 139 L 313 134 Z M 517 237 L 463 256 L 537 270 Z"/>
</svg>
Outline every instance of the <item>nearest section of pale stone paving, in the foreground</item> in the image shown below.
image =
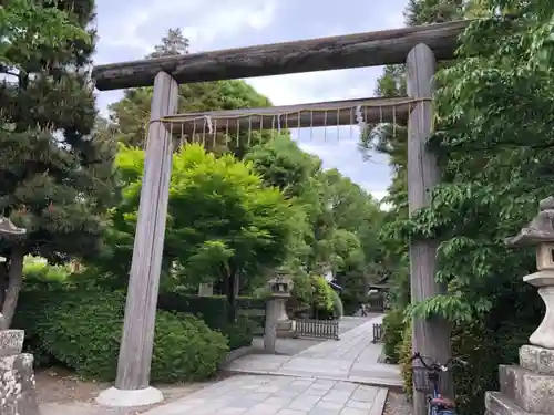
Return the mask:
<svg viewBox="0 0 554 415">
<path fill-rule="evenodd" d="M 143 415 L 381 415 L 387 392 L 350 382 L 237 375 Z"/>
</svg>

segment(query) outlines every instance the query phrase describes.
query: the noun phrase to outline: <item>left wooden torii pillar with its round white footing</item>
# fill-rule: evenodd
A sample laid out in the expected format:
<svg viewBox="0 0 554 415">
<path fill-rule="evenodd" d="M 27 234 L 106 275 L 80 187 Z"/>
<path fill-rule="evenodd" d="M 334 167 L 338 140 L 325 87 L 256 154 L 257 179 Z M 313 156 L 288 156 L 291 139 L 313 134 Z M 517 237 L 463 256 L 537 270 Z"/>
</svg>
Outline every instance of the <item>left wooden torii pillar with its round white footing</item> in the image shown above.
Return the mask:
<svg viewBox="0 0 554 415">
<path fill-rule="evenodd" d="M 177 103 L 177 82 L 160 72 L 154 79 L 117 377 L 115 387 L 103 391 L 96 398 L 106 406 L 138 406 L 163 401 L 162 393 L 150 386 L 173 157 L 173 138 L 160 120 L 174 115 Z"/>
</svg>

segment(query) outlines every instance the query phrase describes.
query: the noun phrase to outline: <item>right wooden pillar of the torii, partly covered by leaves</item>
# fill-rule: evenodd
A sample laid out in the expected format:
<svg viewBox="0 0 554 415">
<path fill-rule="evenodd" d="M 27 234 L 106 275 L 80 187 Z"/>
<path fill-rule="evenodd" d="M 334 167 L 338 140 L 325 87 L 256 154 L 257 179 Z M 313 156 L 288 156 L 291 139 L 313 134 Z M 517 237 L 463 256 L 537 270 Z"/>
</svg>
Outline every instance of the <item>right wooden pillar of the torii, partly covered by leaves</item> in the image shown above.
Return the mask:
<svg viewBox="0 0 554 415">
<path fill-rule="evenodd" d="M 411 215 L 417 209 L 429 206 L 433 187 L 440 181 L 437 156 L 427 145 L 433 124 L 430 98 L 433 93 L 437 61 L 433 51 L 420 43 L 410 51 L 406 64 L 408 95 L 421 100 L 408 120 L 408 204 Z M 412 304 L 444 292 L 444 287 L 434 280 L 437 247 L 438 242 L 434 240 L 410 242 Z M 441 363 L 445 362 L 451 355 L 450 324 L 439 318 L 413 319 L 412 351 L 437 359 Z M 414 362 L 414 365 L 417 364 Z M 451 387 L 450 385 L 449 388 Z M 449 395 L 449 391 L 442 393 Z M 413 393 L 413 415 L 427 415 L 427 397 L 417 391 Z"/>
</svg>

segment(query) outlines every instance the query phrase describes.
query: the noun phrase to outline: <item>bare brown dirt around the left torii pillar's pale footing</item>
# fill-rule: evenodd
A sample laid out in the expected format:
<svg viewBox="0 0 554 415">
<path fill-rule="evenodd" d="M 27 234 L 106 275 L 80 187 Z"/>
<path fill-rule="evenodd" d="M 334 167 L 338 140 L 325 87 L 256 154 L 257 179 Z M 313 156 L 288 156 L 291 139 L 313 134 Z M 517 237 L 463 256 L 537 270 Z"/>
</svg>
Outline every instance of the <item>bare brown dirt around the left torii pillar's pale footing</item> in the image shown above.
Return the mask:
<svg viewBox="0 0 554 415">
<path fill-rule="evenodd" d="M 162 404 L 166 404 L 215 383 L 225 376 L 228 376 L 228 374 L 222 374 L 219 377 L 204 383 L 156 385 L 156 387 L 164 394 L 165 400 Z M 38 371 L 35 380 L 41 415 L 136 415 L 156 406 L 148 405 L 134 408 L 106 408 L 100 406 L 94 402 L 94 398 L 110 385 L 81 381 L 71 372 L 62 369 L 53 367 Z"/>
</svg>

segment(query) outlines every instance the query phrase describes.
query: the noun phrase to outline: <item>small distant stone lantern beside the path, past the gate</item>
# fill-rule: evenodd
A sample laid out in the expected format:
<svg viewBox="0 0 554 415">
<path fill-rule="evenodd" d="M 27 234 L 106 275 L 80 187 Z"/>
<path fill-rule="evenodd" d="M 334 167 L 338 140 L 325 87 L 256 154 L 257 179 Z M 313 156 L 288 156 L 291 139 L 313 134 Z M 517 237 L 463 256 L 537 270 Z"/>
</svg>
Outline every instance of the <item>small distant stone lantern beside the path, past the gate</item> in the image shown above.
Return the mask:
<svg viewBox="0 0 554 415">
<path fill-rule="evenodd" d="M 266 304 L 266 329 L 264 333 L 264 349 L 267 353 L 275 353 L 277 338 L 288 338 L 294 334 L 294 321 L 287 315 L 287 300 L 293 290 L 293 280 L 285 272 L 277 271 L 269 280 L 271 297 Z"/>
</svg>

